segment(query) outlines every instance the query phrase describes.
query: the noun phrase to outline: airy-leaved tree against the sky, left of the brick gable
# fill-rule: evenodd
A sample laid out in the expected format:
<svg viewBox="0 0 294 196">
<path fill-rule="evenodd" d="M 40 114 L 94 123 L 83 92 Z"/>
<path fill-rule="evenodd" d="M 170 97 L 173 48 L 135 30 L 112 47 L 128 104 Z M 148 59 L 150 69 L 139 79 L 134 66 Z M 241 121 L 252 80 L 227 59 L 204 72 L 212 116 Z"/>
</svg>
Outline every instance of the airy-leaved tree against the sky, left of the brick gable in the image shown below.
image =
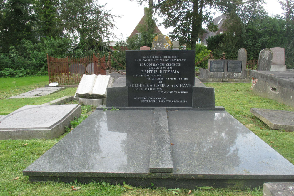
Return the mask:
<svg viewBox="0 0 294 196">
<path fill-rule="evenodd" d="M 113 18 L 105 5 L 99 5 L 97 0 L 60 0 L 60 17 L 64 23 L 67 36 L 76 43 L 85 43 L 86 38 L 97 41 L 109 40 L 114 35 Z"/>
</svg>

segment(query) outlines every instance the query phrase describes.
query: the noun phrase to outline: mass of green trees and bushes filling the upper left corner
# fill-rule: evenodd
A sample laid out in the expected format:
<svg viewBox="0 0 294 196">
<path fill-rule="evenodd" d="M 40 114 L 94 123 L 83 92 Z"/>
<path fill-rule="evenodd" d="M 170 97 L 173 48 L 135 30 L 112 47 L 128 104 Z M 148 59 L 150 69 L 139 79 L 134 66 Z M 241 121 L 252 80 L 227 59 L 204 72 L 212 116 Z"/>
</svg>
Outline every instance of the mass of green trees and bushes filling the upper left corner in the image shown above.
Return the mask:
<svg viewBox="0 0 294 196">
<path fill-rule="evenodd" d="M 98 0 L 0 0 L 0 76 L 44 74 L 46 53 L 64 57 L 77 43 L 76 55 L 101 52 L 114 17 Z"/>
</svg>

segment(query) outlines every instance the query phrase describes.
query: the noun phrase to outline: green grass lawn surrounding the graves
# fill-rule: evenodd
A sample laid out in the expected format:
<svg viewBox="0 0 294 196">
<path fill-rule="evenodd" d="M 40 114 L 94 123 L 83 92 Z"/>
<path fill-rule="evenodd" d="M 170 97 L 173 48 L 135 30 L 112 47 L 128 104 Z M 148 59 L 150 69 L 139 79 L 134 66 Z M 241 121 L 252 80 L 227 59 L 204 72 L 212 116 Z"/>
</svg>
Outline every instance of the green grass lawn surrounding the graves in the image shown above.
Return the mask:
<svg viewBox="0 0 294 196">
<path fill-rule="evenodd" d="M 6 99 L 21 93 L 44 87 L 48 76 L 25 78 L 0 78 L 0 115 L 7 115 L 24 105 L 40 105 L 66 95 L 74 95 L 76 88 L 66 88 L 57 93 L 38 98 Z M 251 93 L 251 83 L 205 83 L 215 88 L 216 105 L 225 107 L 226 111 L 278 151 L 294 164 L 294 132 L 273 130 L 250 113 L 250 108 L 294 111 L 293 107 L 274 100 L 255 96 Z M 75 102 L 76 104 L 76 102 Z M 82 114 L 90 114 L 95 107 L 82 106 Z M 114 111 L 115 112 L 115 111 Z M 123 118 L 123 117 L 122 117 Z M 22 170 L 33 163 L 61 138 L 51 140 L 0 140 L 0 195 L 175 195 L 171 190 L 153 187 L 132 187 L 127 185 L 110 185 L 106 182 L 30 182 Z M 72 186 L 81 187 L 72 190 Z M 197 186 L 197 185 L 195 185 Z M 206 187 L 207 188 L 207 187 Z M 173 190 L 179 195 L 188 195 L 189 190 Z M 254 190 L 235 189 L 199 189 L 189 195 L 262 195 L 262 188 Z"/>
</svg>

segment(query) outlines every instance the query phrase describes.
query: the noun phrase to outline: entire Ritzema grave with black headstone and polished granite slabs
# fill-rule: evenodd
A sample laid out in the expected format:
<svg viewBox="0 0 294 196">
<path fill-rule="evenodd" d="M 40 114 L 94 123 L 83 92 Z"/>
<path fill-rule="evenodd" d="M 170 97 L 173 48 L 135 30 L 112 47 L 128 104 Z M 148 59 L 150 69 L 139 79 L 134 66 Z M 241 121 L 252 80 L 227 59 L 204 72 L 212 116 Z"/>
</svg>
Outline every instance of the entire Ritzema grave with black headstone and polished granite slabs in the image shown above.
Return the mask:
<svg viewBox="0 0 294 196">
<path fill-rule="evenodd" d="M 189 189 L 253 188 L 294 179 L 293 164 L 215 106 L 214 88 L 194 77 L 194 56 L 181 50 L 126 51 L 126 78 L 107 89 L 106 107 L 98 107 L 23 174 L 31 181 Z"/>
</svg>

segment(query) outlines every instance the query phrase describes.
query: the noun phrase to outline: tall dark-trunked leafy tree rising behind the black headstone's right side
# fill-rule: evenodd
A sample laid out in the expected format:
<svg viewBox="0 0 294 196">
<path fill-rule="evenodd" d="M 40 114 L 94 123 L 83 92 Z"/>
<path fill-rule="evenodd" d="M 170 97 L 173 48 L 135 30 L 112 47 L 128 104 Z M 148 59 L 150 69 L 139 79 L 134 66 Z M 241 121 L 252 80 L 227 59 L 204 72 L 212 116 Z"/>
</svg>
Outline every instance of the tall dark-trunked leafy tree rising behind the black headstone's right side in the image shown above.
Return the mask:
<svg viewBox="0 0 294 196">
<path fill-rule="evenodd" d="M 154 7 L 162 16 L 166 16 L 164 26 L 174 27 L 169 36 L 194 50 L 198 35 L 204 31 L 202 24 L 216 30 L 208 8 L 225 11 L 228 5 L 228 1 L 222 0 L 158 0 Z"/>
</svg>

